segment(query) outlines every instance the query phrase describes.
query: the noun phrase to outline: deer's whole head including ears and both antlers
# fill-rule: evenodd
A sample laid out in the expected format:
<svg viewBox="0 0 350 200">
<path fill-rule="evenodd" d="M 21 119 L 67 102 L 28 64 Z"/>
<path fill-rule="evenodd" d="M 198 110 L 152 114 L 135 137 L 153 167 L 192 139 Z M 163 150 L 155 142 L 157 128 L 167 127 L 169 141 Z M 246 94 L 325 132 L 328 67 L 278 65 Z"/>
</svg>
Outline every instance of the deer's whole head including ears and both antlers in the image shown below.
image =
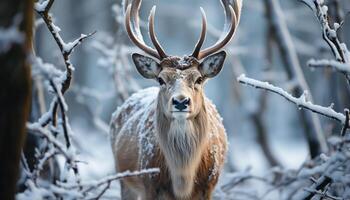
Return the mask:
<svg viewBox="0 0 350 200">
<path fill-rule="evenodd" d="M 206 15 L 202 8 L 202 31 L 190 56 L 169 56 L 160 45 L 154 32 L 154 6 L 149 17 L 149 34 L 155 47 L 143 40 L 138 12 L 142 0 L 133 0 L 126 8 L 125 26 L 130 39 L 151 57 L 134 53 L 133 61 L 138 72 L 145 78 L 159 82 L 158 107 L 167 118 L 189 119 L 203 107 L 203 84 L 216 76 L 222 69 L 226 57 L 222 49 L 233 37 L 239 22 L 241 0 L 234 8 L 228 1 L 221 0 L 225 9 L 226 23 L 223 36 L 211 47 L 201 50 L 206 35 Z"/>
</svg>

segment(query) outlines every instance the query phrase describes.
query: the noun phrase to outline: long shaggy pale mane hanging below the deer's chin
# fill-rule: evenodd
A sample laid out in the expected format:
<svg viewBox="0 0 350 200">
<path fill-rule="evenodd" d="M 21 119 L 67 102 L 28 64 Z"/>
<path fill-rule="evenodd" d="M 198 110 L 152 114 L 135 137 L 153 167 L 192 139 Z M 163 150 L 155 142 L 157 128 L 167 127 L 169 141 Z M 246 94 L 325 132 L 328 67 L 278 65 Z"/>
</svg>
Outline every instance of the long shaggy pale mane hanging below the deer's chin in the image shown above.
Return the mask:
<svg viewBox="0 0 350 200">
<path fill-rule="evenodd" d="M 204 102 L 204 99 L 203 99 Z M 157 105 L 156 124 L 159 145 L 170 171 L 175 196 L 191 195 L 196 171 L 207 142 L 208 116 L 205 105 L 191 119 L 169 119 Z"/>
</svg>

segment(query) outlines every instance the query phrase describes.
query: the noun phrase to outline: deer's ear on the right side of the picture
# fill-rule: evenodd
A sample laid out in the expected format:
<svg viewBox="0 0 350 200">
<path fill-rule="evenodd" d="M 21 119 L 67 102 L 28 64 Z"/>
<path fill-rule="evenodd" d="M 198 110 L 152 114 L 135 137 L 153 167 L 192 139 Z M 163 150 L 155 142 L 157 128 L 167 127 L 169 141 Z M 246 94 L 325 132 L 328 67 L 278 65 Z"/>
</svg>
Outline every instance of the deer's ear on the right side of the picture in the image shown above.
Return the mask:
<svg viewBox="0 0 350 200">
<path fill-rule="evenodd" d="M 213 55 L 206 57 L 199 65 L 199 71 L 206 78 L 212 78 L 219 74 L 224 65 L 226 58 L 226 52 L 220 51 Z"/>
</svg>

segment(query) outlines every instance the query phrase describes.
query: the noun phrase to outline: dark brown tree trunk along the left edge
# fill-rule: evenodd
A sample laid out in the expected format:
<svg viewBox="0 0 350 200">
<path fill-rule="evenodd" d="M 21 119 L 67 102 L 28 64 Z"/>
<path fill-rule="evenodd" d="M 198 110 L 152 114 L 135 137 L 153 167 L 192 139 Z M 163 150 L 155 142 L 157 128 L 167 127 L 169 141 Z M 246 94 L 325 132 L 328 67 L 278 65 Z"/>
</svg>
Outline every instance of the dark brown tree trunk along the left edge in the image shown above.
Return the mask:
<svg viewBox="0 0 350 200">
<path fill-rule="evenodd" d="M 31 99 L 28 55 L 31 50 L 33 1 L 0 1 L 0 27 L 16 20 L 22 41 L 11 42 L 0 51 L 0 199 L 14 199 L 19 158 L 25 139 L 25 124 Z"/>
</svg>

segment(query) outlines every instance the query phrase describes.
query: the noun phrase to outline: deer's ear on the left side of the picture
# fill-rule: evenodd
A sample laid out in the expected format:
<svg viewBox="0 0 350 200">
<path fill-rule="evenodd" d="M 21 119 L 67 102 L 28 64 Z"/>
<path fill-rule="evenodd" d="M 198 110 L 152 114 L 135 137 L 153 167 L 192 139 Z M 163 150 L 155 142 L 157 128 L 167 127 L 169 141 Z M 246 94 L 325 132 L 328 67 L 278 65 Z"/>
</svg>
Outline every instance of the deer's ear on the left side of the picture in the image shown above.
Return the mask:
<svg viewBox="0 0 350 200">
<path fill-rule="evenodd" d="M 132 54 L 132 60 L 137 71 L 145 78 L 156 78 L 161 70 L 159 63 L 153 58 L 134 53 Z"/>
</svg>

